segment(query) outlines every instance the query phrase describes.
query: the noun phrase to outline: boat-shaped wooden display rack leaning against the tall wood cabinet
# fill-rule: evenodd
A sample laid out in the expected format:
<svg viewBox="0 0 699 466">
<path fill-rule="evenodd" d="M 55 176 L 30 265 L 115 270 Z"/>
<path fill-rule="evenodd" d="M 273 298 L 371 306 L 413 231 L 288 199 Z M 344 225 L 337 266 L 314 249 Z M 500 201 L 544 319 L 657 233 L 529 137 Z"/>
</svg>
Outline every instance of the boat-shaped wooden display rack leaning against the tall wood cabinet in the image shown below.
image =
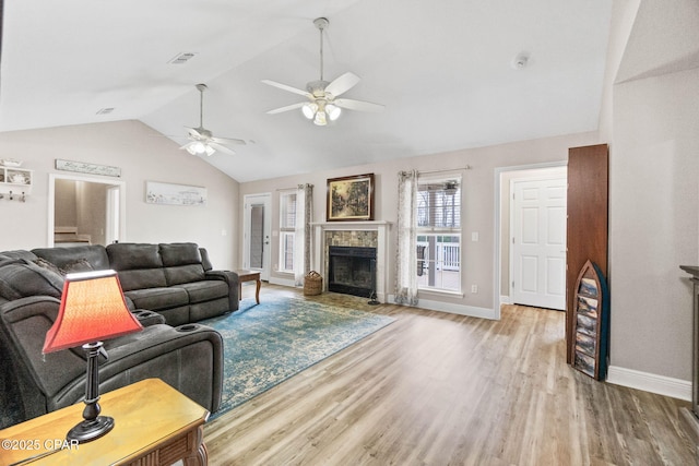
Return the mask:
<svg viewBox="0 0 699 466">
<path fill-rule="evenodd" d="M 576 283 L 572 366 L 596 380 L 607 372 L 609 347 L 609 292 L 600 268 L 588 261 Z"/>
</svg>

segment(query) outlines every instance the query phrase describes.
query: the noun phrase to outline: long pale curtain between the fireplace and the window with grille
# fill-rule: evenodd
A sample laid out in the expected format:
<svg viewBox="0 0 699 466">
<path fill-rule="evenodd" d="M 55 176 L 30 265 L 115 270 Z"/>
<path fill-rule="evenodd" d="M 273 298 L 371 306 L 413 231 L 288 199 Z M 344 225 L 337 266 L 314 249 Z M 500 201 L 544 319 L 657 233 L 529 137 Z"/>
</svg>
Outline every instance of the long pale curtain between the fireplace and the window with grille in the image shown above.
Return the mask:
<svg viewBox="0 0 699 466">
<path fill-rule="evenodd" d="M 417 238 L 415 200 L 417 171 L 398 174 L 398 256 L 395 260 L 395 303 L 417 306 Z"/>
</svg>

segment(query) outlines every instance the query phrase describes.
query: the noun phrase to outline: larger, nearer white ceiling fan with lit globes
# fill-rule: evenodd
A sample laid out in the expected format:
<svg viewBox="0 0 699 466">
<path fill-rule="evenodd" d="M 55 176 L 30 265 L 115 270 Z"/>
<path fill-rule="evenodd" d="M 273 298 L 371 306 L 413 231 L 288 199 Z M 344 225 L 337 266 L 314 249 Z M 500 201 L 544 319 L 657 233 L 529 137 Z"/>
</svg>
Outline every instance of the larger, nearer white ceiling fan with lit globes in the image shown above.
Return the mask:
<svg viewBox="0 0 699 466">
<path fill-rule="evenodd" d="M 384 107 L 380 104 L 354 100 L 350 98 L 337 98 L 340 95 L 354 87 L 359 82 L 359 76 L 352 72 L 347 72 L 340 75 L 332 82 L 323 80 L 323 29 L 328 27 L 330 22 L 325 17 L 317 17 L 313 20 L 313 24 L 320 31 L 320 80 L 311 81 L 306 84 L 306 91 L 277 83 L 276 81 L 262 80 L 264 84 L 269 84 L 294 94 L 299 94 L 308 98 L 308 101 L 300 101 L 285 107 L 275 108 L 268 111 L 268 113 L 281 113 L 283 111 L 300 108 L 306 118 L 312 120 L 313 123 L 323 127 L 328 124 L 329 121 L 336 120 L 343 108 L 359 111 L 383 110 Z"/>
</svg>

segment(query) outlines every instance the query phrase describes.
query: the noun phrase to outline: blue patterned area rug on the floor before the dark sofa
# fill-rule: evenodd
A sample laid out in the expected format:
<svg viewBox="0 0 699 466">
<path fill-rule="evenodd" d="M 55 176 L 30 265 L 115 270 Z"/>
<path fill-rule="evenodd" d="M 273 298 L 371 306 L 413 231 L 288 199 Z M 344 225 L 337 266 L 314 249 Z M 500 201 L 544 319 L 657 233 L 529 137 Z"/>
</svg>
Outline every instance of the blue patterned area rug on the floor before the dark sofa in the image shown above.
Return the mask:
<svg viewBox="0 0 699 466">
<path fill-rule="evenodd" d="M 224 338 L 221 407 L 211 419 L 384 327 L 395 319 L 296 298 L 246 299 L 200 323 Z"/>
</svg>

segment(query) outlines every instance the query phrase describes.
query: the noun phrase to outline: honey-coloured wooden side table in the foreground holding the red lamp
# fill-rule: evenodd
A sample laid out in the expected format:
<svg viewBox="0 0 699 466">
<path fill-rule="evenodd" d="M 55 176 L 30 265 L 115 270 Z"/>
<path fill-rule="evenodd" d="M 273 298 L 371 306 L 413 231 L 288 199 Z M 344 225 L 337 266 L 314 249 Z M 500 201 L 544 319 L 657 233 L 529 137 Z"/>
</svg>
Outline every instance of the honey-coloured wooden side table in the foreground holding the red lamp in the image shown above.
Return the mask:
<svg viewBox="0 0 699 466">
<path fill-rule="evenodd" d="M 105 393 L 102 415 L 114 429 L 87 443 L 71 444 L 66 433 L 82 420 L 84 404 L 0 430 L 0 464 L 39 455 L 32 465 L 206 465 L 203 425 L 209 411 L 159 379 Z M 43 455 L 43 456 L 42 456 Z M 25 463 L 22 463 L 25 464 Z"/>
</svg>

